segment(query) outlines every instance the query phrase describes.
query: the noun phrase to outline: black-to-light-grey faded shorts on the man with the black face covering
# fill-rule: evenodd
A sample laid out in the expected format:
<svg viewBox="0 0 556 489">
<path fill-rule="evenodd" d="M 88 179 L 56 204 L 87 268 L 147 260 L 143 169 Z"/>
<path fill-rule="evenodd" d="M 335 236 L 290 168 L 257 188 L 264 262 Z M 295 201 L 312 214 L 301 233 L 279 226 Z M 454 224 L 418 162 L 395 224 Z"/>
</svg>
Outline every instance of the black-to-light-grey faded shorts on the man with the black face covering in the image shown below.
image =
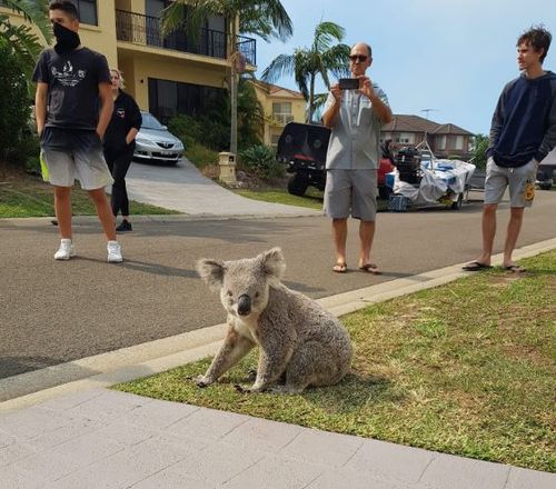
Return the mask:
<svg viewBox="0 0 556 489">
<path fill-rule="evenodd" d="M 77 180 L 85 190 L 113 183 L 102 153 L 102 142 L 95 131 L 46 128 L 41 152 L 48 168 L 48 181 L 57 187 L 73 187 Z"/>
</svg>

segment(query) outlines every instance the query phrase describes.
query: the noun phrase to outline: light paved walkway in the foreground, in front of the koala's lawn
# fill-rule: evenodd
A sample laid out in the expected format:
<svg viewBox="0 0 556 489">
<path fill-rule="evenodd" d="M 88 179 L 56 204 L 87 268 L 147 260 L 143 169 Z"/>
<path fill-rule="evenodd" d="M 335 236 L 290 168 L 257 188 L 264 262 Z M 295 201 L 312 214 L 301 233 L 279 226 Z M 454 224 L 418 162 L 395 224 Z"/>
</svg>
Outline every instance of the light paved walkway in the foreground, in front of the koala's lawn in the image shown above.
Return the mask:
<svg viewBox="0 0 556 489">
<path fill-rule="evenodd" d="M 0 417 L 0 481 L 7 489 L 556 487 L 550 473 L 105 389 Z"/>
</svg>

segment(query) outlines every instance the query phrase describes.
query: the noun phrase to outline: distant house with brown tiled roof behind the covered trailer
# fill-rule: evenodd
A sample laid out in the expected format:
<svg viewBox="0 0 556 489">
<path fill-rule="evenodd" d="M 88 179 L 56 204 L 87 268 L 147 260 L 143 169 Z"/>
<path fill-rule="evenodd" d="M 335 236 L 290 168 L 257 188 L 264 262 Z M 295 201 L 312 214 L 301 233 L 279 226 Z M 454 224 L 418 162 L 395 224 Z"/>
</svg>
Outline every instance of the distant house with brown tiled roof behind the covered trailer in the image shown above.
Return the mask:
<svg viewBox="0 0 556 489">
<path fill-rule="evenodd" d="M 395 114 L 390 123 L 383 127 L 380 141 L 391 140 L 391 148 L 417 146 L 427 140 L 437 158 L 457 156 L 470 158 L 474 133 L 456 124 L 439 124 L 419 116 Z"/>
</svg>

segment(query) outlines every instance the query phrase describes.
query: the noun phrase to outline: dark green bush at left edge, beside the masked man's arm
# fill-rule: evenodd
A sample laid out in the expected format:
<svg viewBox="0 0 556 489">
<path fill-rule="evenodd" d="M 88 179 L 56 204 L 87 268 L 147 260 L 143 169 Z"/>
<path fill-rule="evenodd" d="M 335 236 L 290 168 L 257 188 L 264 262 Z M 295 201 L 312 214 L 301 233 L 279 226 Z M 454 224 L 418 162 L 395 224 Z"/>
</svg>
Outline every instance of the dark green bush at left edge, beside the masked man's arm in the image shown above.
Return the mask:
<svg viewBox="0 0 556 489">
<path fill-rule="evenodd" d="M 24 164 L 29 121 L 29 88 L 17 58 L 0 43 L 0 160 Z"/>
</svg>

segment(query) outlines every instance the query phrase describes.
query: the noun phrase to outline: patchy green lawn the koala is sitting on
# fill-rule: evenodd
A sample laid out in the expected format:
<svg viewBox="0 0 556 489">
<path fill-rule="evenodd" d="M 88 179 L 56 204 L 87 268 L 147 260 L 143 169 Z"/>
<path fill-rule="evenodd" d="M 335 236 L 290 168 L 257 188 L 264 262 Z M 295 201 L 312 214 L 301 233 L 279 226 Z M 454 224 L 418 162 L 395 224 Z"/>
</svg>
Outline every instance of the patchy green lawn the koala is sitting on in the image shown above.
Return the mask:
<svg viewBox="0 0 556 489">
<path fill-rule="evenodd" d="M 335 387 L 238 393 L 252 352 L 206 389 L 209 359 L 115 388 L 554 472 L 556 250 L 522 263 L 344 317 L 356 356 Z"/>
</svg>

